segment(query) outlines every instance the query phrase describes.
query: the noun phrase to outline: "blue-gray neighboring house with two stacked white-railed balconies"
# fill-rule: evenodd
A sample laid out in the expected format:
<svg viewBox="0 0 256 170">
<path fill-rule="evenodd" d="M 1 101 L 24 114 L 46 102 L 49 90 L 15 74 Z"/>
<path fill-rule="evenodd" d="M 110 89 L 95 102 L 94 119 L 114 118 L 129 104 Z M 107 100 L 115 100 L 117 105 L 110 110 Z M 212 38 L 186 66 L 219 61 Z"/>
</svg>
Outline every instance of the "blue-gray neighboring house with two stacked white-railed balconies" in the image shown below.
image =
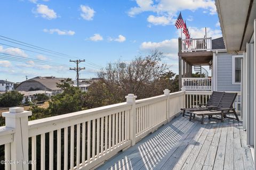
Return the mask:
<svg viewBox="0 0 256 170">
<path fill-rule="evenodd" d="M 181 39 L 180 39 L 181 40 Z M 223 38 L 190 39 L 188 47 L 185 40 L 181 40 L 181 51 L 179 52 L 180 88 L 190 91 L 241 91 L 241 61 L 243 55 L 228 54 Z M 210 66 L 212 76 L 203 66 Z M 189 84 L 194 72 L 204 73 L 206 78 L 193 78 L 193 81 L 204 81 L 202 86 Z M 197 82 L 197 84 L 198 84 Z"/>
</svg>

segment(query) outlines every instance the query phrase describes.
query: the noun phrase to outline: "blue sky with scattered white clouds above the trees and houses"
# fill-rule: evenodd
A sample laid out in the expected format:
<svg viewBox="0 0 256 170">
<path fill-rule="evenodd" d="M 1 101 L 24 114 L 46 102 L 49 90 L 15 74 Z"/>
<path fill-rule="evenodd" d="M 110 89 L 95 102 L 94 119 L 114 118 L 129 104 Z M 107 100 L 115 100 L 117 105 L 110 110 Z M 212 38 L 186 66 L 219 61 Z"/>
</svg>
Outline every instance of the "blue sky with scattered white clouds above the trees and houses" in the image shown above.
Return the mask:
<svg viewBox="0 0 256 170">
<path fill-rule="evenodd" d="M 154 49 L 162 51 L 163 62 L 178 72 L 180 34 L 174 23 L 180 11 L 191 37 L 202 38 L 204 27 L 207 27 L 207 37 L 221 37 L 214 1 L 210 0 L 1 1 L 0 36 L 70 57 L 29 52 L 25 49 L 33 49 L 0 39 L 0 53 L 24 59 L 17 62 L 0 56 L 0 80 L 20 82 L 26 80 L 25 75 L 75 79 L 75 72 L 69 71 L 69 66 L 75 63 L 69 59 L 76 58 L 84 59 L 86 62 L 81 67 L 88 69 L 81 71 L 80 77 L 91 78 L 95 77 L 92 71 L 99 70 L 100 66 L 119 59 L 129 61 Z M 29 61 L 31 58 L 37 62 Z"/>
</svg>

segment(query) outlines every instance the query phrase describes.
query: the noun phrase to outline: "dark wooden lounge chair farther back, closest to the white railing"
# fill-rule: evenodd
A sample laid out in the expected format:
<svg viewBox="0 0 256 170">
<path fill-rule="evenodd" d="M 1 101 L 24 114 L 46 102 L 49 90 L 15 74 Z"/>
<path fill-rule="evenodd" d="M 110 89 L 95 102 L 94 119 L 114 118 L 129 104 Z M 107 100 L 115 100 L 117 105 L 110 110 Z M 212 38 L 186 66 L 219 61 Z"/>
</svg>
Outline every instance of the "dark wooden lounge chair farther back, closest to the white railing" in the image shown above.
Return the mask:
<svg viewBox="0 0 256 170">
<path fill-rule="evenodd" d="M 208 111 L 212 107 L 218 106 L 223 94 L 224 94 L 224 92 L 222 92 L 222 91 L 213 91 L 212 95 L 210 96 L 210 99 L 207 101 L 206 104 L 199 104 L 198 108 L 181 108 L 181 111 L 183 111 L 182 116 L 185 116 L 186 111 L 187 112 Z M 206 105 L 206 106 L 202 107 L 202 105 Z M 187 115 L 187 116 L 189 116 L 189 115 Z"/>
</svg>

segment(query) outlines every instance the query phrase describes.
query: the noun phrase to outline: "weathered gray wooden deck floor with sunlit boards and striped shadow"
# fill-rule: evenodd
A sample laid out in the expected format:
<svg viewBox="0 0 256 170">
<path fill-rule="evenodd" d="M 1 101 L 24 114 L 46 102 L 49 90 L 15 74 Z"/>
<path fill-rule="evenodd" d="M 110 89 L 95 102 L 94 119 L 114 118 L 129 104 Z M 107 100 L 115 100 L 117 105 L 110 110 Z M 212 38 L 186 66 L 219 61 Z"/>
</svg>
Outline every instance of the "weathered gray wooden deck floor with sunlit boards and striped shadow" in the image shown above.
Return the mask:
<svg viewBox="0 0 256 170">
<path fill-rule="evenodd" d="M 178 116 L 98 169 L 253 169 L 242 122 Z"/>
</svg>

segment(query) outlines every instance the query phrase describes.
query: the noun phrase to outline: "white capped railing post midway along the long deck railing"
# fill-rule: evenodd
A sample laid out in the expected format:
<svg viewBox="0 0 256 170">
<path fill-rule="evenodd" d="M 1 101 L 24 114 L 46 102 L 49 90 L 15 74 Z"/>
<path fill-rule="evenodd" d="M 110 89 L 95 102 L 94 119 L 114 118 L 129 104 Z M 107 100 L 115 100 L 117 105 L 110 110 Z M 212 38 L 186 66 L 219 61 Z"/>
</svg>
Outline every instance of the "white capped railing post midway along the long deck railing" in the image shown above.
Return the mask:
<svg viewBox="0 0 256 170">
<path fill-rule="evenodd" d="M 128 96 L 125 96 L 127 103 L 132 103 L 132 108 L 130 112 L 130 137 L 132 141 L 132 146 L 136 143 L 136 106 L 135 106 L 135 99 L 137 96 L 134 96 L 134 94 L 128 94 Z"/>
</svg>

